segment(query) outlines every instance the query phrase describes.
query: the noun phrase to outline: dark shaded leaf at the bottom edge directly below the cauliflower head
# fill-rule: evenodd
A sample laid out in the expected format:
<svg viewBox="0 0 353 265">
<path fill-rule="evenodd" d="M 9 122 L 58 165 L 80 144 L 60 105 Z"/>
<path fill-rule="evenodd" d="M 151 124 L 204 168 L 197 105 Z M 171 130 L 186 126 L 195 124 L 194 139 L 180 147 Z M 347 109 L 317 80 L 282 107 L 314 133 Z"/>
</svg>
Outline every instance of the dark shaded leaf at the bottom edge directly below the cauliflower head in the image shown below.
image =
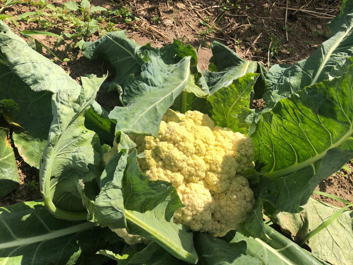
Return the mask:
<svg viewBox="0 0 353 265">
<path fill-rule="evenodd" d="M 263 265 L 260 260 L 245 254 L 246 242 L 227 243 L 209 234 L 195 233 L 195 245 L 200 261 L 205 265 Z"/>
</svg>

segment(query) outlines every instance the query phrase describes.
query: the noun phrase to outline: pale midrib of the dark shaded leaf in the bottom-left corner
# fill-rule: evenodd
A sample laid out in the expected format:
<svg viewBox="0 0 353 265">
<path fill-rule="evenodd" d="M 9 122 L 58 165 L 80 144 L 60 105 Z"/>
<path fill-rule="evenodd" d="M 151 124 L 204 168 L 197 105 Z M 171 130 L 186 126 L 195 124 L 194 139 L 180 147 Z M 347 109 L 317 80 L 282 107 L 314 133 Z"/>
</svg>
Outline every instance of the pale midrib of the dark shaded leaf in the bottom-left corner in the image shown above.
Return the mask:
<svg viewBox="0 0 353 265">
<path fill-rule="evenodd" d="M 94 227 L 95 227 L 94 223 L 85 222 L 85 223 L 82 223 L 82 224 L 77 224 L 77 225 L 70 226 L 68 228 L 55 230 L 53 232 L 48 232 L 47 234 L 40 235 L 40 236 L 31 236 L 31 237 L 27 237 L 27 238 L 19 238 L 19 239 L 10 241 L 10 242 L 0 243 L 0 249 L 19 247 L 19 246 L 29 245 L 29 244 L 33 244 L 33 243 L 37 243 L 37 242 L 42 242 L 42 241 L 45 241 L 45 240 L 58 238 L 60 236 L 66 236 L 66 235 L 70 235 L 70 234 L 73 234 L 73 233 L 89 230 L 89 229 L 92 229 Z"/>
</svg>

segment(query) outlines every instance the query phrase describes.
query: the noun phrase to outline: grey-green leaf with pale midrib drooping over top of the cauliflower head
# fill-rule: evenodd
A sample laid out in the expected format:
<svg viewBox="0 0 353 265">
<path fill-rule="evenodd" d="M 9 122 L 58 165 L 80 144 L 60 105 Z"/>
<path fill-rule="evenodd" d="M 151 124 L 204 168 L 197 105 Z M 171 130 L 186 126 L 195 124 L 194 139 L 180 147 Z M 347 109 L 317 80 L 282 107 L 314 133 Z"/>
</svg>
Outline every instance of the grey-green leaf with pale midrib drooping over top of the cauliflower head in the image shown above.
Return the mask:
<svg viewBox="0 0 353 265">
<path fill-rule="evenodd" d="M 116 124 L 115 134 L 147 134 L 157 136 L 162 116 L 183 91 L 189 80 L 190 57 L 178 64 L 166 65 L 161 60 L 142 66 L 138 80 L 131 76 L 124 90 L 126 107 L 115 107 L 109 114 Z"/>
</svg>

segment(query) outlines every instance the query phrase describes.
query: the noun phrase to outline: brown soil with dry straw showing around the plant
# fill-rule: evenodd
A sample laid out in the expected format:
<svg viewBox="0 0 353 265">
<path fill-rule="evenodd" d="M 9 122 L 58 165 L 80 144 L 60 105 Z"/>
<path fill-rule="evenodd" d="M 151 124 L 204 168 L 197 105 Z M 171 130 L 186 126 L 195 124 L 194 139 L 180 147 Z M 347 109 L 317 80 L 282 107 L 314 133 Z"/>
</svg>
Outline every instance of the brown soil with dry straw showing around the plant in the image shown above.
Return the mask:
<svg viewBox="0 0 353 265">
<path fill-rule="evenodd" d="M 66 1 L 48 1 L 48 4 L 60 6 Z M 219 41 L 236 51 L 240 57 L 259 61 L 266 67 L 276 63 L 293 64 L 304 59 L 327 40 L 329 31 L 326 23 L 336 16 L 340 5 L 339 0 L 288 0 L 286 10 L 285 0 L 228 2 L 234 4 L 229 10 L 227 9 L 229 4 L 226 5 L 225 0 L 136 0 L 116 4 L 107 0 L 91 1 L 94 5 L 112 8 L 112 10 L 124 6 L 131 8 L 131 13 L 139 20 L 131 23 L 125 23 L 124 20 L 117 21 L 116 28 L 126 30 L 128 36 L 141 45 L 150 42 L 153 47 L 161 47 L 172 42 L 173 38 L 185 44 L 190 43 L 197 51 L 198 65 L 202 71 L 208 68 L 212 56 L 209 46 L 213 41 Z M 302 8 L 298 11 L 300 7 Z M 32 9 L 35 7 L 30 9 L 26 4 L 17 4 L 7 8 L 4 13 L 16 17 L 19 14 L 33 11 Z M 51 29 L 42 28 L 36 21 L 28 23 L 24 20 L 19 21 L 18 27 L 11 22 L 8 24 L 17 30 L 42 30 L 59 35 L 62 31 L 73 33 L 63 22 L 58 22 L 57 26 Z M 97 40 L 101 34 L 103 33 L 98 31 L 85 41 Z M 79 49 L 74 47 L 75 41 L 62 40 L 56 43 L 56 37 L 43 35 L 36 35 L 35 38 L 52 48 L 61 60 L 71 59 L 61 62 L 45 49 L 42 51 L 44 56 L 60 65 L 77 82 L 80 82 L 79 77 L 85 74 L 94 73 L 102 76 L 108 72 L 109 78 L 114 72 L 104 61 L 89 61 L 84 58 Z M 67 45 L 70 47 L 64 52 Z M 101 89 L 97 94 L 97 101 L 108 109 L 112 109 L 118 104 L 119 95 L 116 92 L 108 94 L 106 90 Z M 253 107 L 263 108 L 263 100 L 254 101 Z M 16 153 L 16 148 L 14 149 Z M 38 171 L 26 165 L 18 154 L 17 159 L 22 185 L 5 198 L 0 199 L 0 206 L 40 198 L 38 189 L 30 190 L 30 186 L 23 185 L 31 180 L 38 181 Z M 351 164 L 347 166 L 352 168 Z M 334 174 L 320 183 L 317 189 L 346 199 L 351 197 L 352 173 L 345 170 L 341 172 L 346 176 Z M 313 197 L 342 206 L 341 202 L 329 198 L 319 195 L 313 195 Z"/>
</svg>

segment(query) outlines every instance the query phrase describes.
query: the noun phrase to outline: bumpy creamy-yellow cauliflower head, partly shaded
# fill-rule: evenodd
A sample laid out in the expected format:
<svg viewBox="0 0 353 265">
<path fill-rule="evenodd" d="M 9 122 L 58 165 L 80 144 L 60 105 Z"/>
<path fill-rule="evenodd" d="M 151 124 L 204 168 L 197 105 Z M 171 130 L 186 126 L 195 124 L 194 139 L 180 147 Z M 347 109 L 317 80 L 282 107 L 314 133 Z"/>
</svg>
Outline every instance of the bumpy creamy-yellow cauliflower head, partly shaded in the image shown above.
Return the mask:
<svg viewBox="0 0 353 265">
<path fill-rule="evenodd" d="M 249 182 L 238 173 L 254 167 L 250 137 L 215 126 L 207 114 L 168 110 L 158 137 L 135 136 L 142 172 L 171 182 L 185 207 L 174 222 L 223 236 L 250 215 L 255 204 Z"/>
</svg>

